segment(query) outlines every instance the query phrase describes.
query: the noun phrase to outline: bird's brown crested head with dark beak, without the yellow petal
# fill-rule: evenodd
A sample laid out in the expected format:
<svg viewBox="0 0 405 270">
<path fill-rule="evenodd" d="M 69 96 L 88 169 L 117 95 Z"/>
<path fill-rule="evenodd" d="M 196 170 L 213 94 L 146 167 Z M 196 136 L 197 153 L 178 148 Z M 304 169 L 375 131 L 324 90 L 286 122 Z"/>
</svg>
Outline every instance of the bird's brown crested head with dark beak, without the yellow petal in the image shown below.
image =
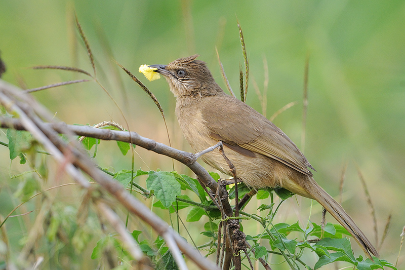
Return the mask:
<svg viewBox="0 0 405 270">
<path fill-rule="evenodd" d="M 150 65 L 165 76 L 175 97 L 216 95 L 221 88 L 204 61 L 196 60 L 197 54 L 179 58 L 168 65 Z"/>
</svg>

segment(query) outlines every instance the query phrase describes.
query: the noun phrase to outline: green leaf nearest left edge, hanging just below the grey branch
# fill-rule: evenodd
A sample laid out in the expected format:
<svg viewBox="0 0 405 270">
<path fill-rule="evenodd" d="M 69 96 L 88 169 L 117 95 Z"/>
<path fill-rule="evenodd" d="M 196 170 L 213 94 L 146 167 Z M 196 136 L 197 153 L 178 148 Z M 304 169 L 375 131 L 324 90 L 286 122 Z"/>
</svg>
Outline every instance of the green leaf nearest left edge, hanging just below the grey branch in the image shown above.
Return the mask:
<svg viewBox="0 0 405 270">
<path fill-rule="evenodd" d="M 28 131 L 7 129 L 9 139 L 10 159 L 14 160 L 31 147 L 32 137 Z"/>
</svg>

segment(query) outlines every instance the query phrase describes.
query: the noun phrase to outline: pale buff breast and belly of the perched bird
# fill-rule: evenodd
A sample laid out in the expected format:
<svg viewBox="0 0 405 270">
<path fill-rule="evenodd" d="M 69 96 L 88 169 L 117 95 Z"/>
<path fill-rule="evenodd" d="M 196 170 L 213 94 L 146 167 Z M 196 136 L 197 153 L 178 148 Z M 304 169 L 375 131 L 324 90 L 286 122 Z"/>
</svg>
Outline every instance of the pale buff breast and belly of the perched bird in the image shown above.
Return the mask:
<svg viewBox="0 0 405 270">
<path fill-rule="evenodd" d="M 195 152 L 205 150 L 218 141 L 210 137 L 206 121 L 201 112 L 194 110 L 190 114 L 178 114 L 178 122 L 184 137 Z M 187 123 L 187 124 L 186 124 Z M 284 187 L 296 194 L 310 198 L 299 182 L 303 174 L 276 160 L 255 153 L 255 157 L 248 157 L 224 145 L 227 158 L 236 168 L 236 176 L 253 188 Z M 229 166 L 218 149 L 201 156 L 201 159 L 213 168 L 232 176 Z"/>
</svg>

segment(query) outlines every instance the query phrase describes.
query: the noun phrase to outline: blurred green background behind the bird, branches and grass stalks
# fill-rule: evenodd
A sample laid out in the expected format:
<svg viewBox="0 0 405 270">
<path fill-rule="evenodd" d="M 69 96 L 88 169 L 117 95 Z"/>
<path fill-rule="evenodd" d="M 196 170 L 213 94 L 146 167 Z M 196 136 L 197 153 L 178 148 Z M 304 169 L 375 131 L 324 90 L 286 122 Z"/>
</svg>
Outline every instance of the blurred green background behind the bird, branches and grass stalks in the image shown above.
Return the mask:
<svg viewBox="0 0 405 270">
<path fill-rule="evenodd" d="M 166 113 L 172 146 L 183 150 L 190 148 L 174 117 L 175 99 L 165 80 L 148 82 L 138 73 L 141 64 L 167 64 L 197 53 L 225 89 L 217 48 L 233 91 L 238 93 L 239 64 L 244 63 L 238 20 L 250 61 L 247 103 L 262 112 L 254 81 L 263 92 L 266 61 L 266 115 L 269 118 L 297 101 L 274 123 L 302 148 L 304 66 L 309 55 L 305 155 L 317 170 L 315 179 L 332 196 L 338 196 L 342 169 L 348 164 L 343 207 L 375 243 L 357 164 L 376 208 L 378 241 L 392 214 L 380 253 L 395 262 L 405 225 L 405 2 L 2 1 L 0 51 L 7 65 L 2 79 L 27 88 L 86 79 L 67 71 L 27 68 L 67 65 L 92 70 L 74 26 L 74 11 L 95 56 L 97 77 L 123 109 L 129 129 L 168 144 L 159 111 L 112 59 L 131 70 L 156 95 Z M 53 88 L 33 96 L 68 124 L 112 120 L 126 127 L 119 110 L 96 83 Z M 0 138 L 6 141 L 4 135 Z M 136 168 L 172 170 L 170 159 L 137 151 Z M 21 168 L 12 166 L 9 171 L 6 147 L 0 148 L 0 162 L 2 185 L 13 190 L 16 183 L 9 175 Z M 100 145 L 97 162 L 116 171 L 131 168 L 131 157 L 121 156 L 108 142 Z M 179 163 L 175 167 L 188 172 Z M 68 195 L 64 199 L 74 202 Z M 287 222 L 298 218 L 305 226 L 310 202 L 297 200 L 289 200 L 281 209 L 285 215 L 279 218 Z M 2 215 L 15 206 L 2 198 L 0 204 Z M 251 204 L 254 212 L 256 206 Z M 314 208 L 311 219 L 319 223 L 320 207 L 316 204 Z M 329 221 L 335 222 L 331 217 Z M 354 241 L 352 244 L 358 251 Z M 404 265 L 403 258 L 399 267 Z"/>
</svg>

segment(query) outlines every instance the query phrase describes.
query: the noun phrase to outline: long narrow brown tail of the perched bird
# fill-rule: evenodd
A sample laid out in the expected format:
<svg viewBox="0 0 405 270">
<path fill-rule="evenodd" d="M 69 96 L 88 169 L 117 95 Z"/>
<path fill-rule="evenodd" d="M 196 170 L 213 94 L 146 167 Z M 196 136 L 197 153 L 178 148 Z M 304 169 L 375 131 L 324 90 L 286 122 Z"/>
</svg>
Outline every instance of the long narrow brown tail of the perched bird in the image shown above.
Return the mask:
<svg viewBox="0 0 405 270">
<path fill-rule="evenodd" d="M 336 218 L 339 223 L 347 229 L 347 231 L 357 241 L 359 246 L 364 250 L 369 258 L 371 255 L 379 257 L 377 250 L 367 237 L 361 232 L 353 219 L 346 213 L 343 207 L 336 202 L 325 190 L 323 190 L 312 177 L 308 177 L 308 181 L 304 181 L 304 189 L 308 194 L 315 199 L 323 208 L 325 208 L 331 215 Z"/>
</svg>

